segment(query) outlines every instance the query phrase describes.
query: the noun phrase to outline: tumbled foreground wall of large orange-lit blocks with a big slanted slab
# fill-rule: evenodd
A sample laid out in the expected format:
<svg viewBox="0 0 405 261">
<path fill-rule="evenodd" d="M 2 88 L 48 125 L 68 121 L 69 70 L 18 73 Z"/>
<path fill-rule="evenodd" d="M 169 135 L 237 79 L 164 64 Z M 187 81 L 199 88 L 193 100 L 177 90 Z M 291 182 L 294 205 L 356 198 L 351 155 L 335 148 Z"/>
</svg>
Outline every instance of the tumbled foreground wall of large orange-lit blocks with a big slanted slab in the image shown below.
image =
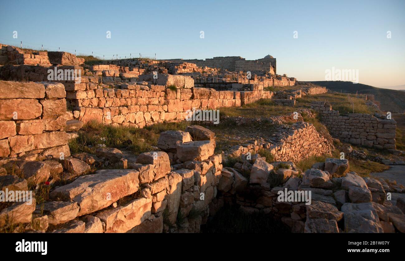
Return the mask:
<svg viewBox="0 0 405 261">
<path fill-rule="evenodd" d="M 64 159 L 16 161 L 32 167 L 21 169 L 24 175 L 35 171 L 40 174 L 37 184 L 51 184 L 49 199 L 3 205 L 0 231 L 200 232 L 200 225 L 218 206 L 215 197 L 222 177 L 222 156 L 213 154 L 213 132 L 200 126 L 186 130 L 189 132 L 163 132 L 158 140 L 161 151 L 131 155 L 128 159 L 118 149 L 98 146 L 96 155 L 79 153 Z M 171 166 L 171 161 L 175 165 Z M 117 163 L 121 168 L 88 173 L 90 165 L 97 169 Z M 28 190 L 27 175 L 19 178 L 1 170 L 2 191 Z"/>
</svg>

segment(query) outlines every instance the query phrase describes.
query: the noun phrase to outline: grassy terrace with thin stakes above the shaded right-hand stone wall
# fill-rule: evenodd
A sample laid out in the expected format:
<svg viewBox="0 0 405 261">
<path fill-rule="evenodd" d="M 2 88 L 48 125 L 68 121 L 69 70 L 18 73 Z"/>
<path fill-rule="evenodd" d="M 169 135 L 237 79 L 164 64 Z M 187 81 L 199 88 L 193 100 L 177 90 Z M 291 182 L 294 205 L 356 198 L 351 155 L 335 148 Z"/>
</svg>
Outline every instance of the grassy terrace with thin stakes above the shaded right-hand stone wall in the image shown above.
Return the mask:
<svg viewBox="0 0 405 261">
<path fill-rule="evenodd" d="M 361 98 L 356 98 L 355 94 L 351 94 L 350 97 L 354 101 L 354 113 L 367 113 L 373 114 L 374 111 L 364 104 Z M 306 95 L 301 98 L 297 98 L 298 107 L 310 108 L 313 101 L 326 101 L 330 102 L 333 110 L 339 110 L 340 115 L 347 115 L 353 113 L 353 107 L 350 102 L 347 101 L 347 94 L 345 93 L 322 93 L 316 95 Z"/>
</svg>

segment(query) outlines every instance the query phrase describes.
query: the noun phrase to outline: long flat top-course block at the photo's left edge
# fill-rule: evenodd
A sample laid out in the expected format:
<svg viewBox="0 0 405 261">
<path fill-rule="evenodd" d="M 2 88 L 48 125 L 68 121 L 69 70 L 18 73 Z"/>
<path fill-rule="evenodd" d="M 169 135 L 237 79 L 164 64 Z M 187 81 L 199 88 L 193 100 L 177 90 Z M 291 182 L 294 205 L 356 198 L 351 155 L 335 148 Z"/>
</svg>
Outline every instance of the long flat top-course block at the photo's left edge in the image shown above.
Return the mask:
<svg viewBox="0 0 405 261">
<path fill-rule="evenodd" d="M 45 97 L 45 87 L 40 83 L 0 81 L 0 99 Z"/>
</svg>

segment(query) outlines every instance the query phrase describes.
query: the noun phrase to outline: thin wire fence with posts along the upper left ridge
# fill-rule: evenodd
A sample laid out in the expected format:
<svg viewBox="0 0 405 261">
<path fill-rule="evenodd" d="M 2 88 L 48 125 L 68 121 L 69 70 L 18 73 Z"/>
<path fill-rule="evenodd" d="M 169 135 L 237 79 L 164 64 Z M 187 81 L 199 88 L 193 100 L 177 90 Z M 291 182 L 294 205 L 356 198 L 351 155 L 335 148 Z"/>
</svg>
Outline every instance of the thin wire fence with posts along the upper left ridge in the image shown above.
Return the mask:
<svg viewBox="0 0 405 261">
<path fill-rule="evenodd" d="M 51 45 L 43 45 L 32 42 L 25 42 L 20 40 L 9 40 L 5 38 L 0 38 L 0 43 L 4 45 L 13 45 L 15 47 L 20 47 L 22 49 L 33 49 L 37 51 L 65 51 L 68 53 L 73 53 L 75 55 L 92 55 L 103 60 L 115 60 L 115 59 L 132 59 L 132 58 L 151 58 L 156 59 L 156 53 L 141 53 L 141 52 L 130 52 L 130 53 L 113 53 L 105 54 L 98 53 L 95 51 L 84 51 L 78 49 L 70 49 L 66 47 L 56 47 Z"/>
</svg>

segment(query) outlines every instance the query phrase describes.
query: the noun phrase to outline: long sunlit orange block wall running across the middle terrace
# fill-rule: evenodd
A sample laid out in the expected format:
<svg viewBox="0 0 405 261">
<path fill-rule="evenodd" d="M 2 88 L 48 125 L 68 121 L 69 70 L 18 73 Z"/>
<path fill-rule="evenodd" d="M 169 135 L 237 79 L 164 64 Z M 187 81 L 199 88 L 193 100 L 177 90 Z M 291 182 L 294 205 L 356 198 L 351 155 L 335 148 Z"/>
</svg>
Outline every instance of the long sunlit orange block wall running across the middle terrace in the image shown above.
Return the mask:
<svg viewBox="0 0 405 261">
<path fill-rule="evenodd" d="M 190 76 L 159 74 L 139 76 L 136 83 L 124 83 L 113 88 L 97 83 L 64 83 L 66 99 L 78 111 L 80 121 L 144 127 L 162 121 L 181 121 L 188 110 L 242 106 L 260 98 L 270 98 L 271 92 L 216 91 L 196 88 Z M 175 87 L 171 89 L 170 86 Z"/>
</svg>

